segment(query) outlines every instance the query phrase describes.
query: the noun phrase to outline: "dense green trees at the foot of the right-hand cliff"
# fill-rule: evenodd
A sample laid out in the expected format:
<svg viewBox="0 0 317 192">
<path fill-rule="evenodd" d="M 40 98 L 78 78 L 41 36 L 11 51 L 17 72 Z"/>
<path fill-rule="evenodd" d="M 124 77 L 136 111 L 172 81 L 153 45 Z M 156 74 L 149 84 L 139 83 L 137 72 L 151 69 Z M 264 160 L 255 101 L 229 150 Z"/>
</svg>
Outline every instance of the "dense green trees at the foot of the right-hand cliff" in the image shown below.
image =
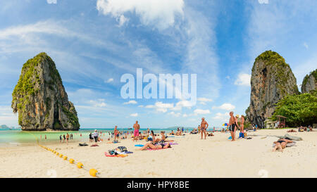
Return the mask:
<svg viewBox="0 0 317 192">
<path fill-rule="evenodd" d="M 317 120 L 317 91 L 310 94 L 286 96 L 278 101 L 273 120 L 276 115 L 287 117 L 286 123 L 289 127 L 309 125 Z"/>
</svg>

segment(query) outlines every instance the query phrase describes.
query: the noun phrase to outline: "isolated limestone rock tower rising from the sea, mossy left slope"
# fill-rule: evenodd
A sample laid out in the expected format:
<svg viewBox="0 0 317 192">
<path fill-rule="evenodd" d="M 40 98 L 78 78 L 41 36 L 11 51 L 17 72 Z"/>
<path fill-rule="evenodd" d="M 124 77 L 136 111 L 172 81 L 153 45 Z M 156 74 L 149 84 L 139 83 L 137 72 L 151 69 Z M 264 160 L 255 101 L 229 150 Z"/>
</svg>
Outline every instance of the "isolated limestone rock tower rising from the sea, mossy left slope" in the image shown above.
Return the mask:
<svg viewBox="0 0 317 192">
<path fill-rule="evenodd" d="M 73 103 L 63 87 L 54 61 L 39 53 L 23 65 L 12 94 L 13 113 L 23 130 L 78 130 Z"/>
</svg>

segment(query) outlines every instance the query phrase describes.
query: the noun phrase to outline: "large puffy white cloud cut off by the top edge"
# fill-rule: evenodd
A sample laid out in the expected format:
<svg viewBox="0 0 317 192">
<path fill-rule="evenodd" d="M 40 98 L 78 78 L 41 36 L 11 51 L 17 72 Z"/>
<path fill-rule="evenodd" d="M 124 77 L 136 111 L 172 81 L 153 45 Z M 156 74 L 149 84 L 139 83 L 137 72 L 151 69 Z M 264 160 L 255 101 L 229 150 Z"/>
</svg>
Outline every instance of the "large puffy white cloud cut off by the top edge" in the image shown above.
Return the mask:
<svg viewBox="0 0 317 192">
<path fill-rule="evenodd" d="M 173 26 L 176 15 L 183 14 L 183 6 L 183 0 L 97 1 L 97 10 L 104 15 L 111 15 L 119 20 L 119 23 L 123 24 L 127 20 L 124 14 L 135 13 L 143 25 L 155 25 L 158 29 Z"/>
</svg>

